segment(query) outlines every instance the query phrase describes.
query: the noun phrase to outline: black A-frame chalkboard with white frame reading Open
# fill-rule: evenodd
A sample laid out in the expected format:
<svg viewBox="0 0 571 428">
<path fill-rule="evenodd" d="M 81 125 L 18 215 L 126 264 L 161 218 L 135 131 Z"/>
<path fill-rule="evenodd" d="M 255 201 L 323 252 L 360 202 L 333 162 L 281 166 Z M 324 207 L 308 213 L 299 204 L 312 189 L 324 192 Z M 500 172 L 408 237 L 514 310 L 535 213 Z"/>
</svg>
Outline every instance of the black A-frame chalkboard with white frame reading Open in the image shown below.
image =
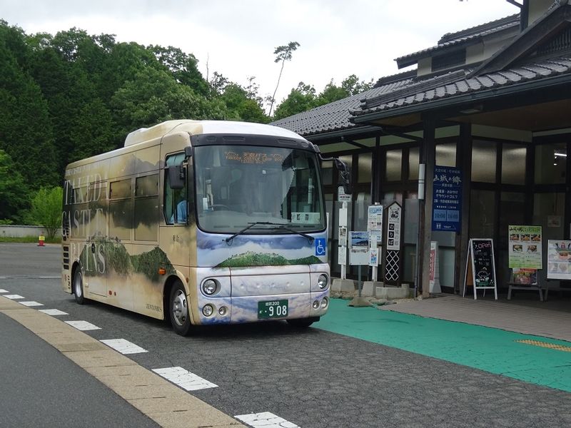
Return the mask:
<svg viewBox="0 0 571 428">
<path fill-rule="evenodd" d="M 497 283 L 495 276 L 494 244 L 492 239 L 470 239 L 464 275 L 464 292 L 472 285 L 474 300 L 477 300 L 477 290 L 494 290 L 497 300 Z"/>
</svg>

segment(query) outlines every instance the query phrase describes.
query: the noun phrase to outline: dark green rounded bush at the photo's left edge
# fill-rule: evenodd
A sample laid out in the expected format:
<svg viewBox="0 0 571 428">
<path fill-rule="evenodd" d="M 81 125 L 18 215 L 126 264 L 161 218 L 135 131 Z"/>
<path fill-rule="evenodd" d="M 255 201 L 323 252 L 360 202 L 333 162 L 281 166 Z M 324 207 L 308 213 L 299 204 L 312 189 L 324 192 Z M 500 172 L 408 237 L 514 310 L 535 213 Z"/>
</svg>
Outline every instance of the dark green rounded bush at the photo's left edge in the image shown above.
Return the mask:
<svg viewBox="0 0 571 428">
<path fill-rule="evenodd" d="M 28 186 L 10 156 L 0 149 L 0 220 L 21 220 L 21 210 L 28 205 Z"/>
</svg>

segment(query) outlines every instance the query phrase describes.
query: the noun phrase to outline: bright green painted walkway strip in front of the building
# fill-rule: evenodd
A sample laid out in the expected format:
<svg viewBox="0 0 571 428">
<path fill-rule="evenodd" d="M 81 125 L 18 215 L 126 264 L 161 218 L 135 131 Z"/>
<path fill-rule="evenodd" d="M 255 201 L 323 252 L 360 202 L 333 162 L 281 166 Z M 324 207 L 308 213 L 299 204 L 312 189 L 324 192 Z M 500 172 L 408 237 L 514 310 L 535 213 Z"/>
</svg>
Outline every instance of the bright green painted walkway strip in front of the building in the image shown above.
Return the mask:
<svg viewBox="0 0 571 428">
<path fill-rule="evenodd" d="M 570 342 L 347 304 L 332 299 L 315 327 L 571 392 L 571 352 L 516 341 L 537 340 L 571 351 Z"/>
</svg>

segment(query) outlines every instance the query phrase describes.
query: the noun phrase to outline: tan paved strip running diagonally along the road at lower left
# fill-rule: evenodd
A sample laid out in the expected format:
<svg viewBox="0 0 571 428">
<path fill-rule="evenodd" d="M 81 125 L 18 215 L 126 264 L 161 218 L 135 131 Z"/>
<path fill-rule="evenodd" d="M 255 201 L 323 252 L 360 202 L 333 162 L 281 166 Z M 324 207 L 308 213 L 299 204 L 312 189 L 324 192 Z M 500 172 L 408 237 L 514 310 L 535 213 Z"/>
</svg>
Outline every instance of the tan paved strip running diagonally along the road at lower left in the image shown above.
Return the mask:
<svg viewBox="0 0 571 428">
<path fill-rule="evenodd" d="M 1 296 L 0 312 L 41 337 L 161 427 L 245 427 L 61 320 Z"/>
</svg>

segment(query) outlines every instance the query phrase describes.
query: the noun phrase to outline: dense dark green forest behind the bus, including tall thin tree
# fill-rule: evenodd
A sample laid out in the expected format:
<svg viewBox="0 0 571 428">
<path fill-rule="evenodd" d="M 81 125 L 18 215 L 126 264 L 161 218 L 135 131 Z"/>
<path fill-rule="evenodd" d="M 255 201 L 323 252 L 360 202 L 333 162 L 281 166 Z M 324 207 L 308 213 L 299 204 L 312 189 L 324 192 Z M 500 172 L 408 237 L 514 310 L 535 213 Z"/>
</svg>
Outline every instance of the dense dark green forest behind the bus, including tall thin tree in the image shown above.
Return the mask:
<svg viewBox="0 0 571 428">
<path fill-rule="evenodd" d="M 276 91 L 299 46 L 292 41 L 274 51 L 281 63 Z M 366 85 L 349 76 L 316 94 L 300 83 L 274 118 Z M 275 93 L 258 90 L 254 76 L 243 86 L 215 71 L 207 81 L 196 57 L 174 46 L 119 43 L 76 28 L 26 34 L 0 19 L 0 220 L 23 220 L 36 192 L 61 185 L 68 163 L 123 146 L 137 128 L 176 118 L 268 123 L 263 104 L 273 109 Z"/>
</svg>

